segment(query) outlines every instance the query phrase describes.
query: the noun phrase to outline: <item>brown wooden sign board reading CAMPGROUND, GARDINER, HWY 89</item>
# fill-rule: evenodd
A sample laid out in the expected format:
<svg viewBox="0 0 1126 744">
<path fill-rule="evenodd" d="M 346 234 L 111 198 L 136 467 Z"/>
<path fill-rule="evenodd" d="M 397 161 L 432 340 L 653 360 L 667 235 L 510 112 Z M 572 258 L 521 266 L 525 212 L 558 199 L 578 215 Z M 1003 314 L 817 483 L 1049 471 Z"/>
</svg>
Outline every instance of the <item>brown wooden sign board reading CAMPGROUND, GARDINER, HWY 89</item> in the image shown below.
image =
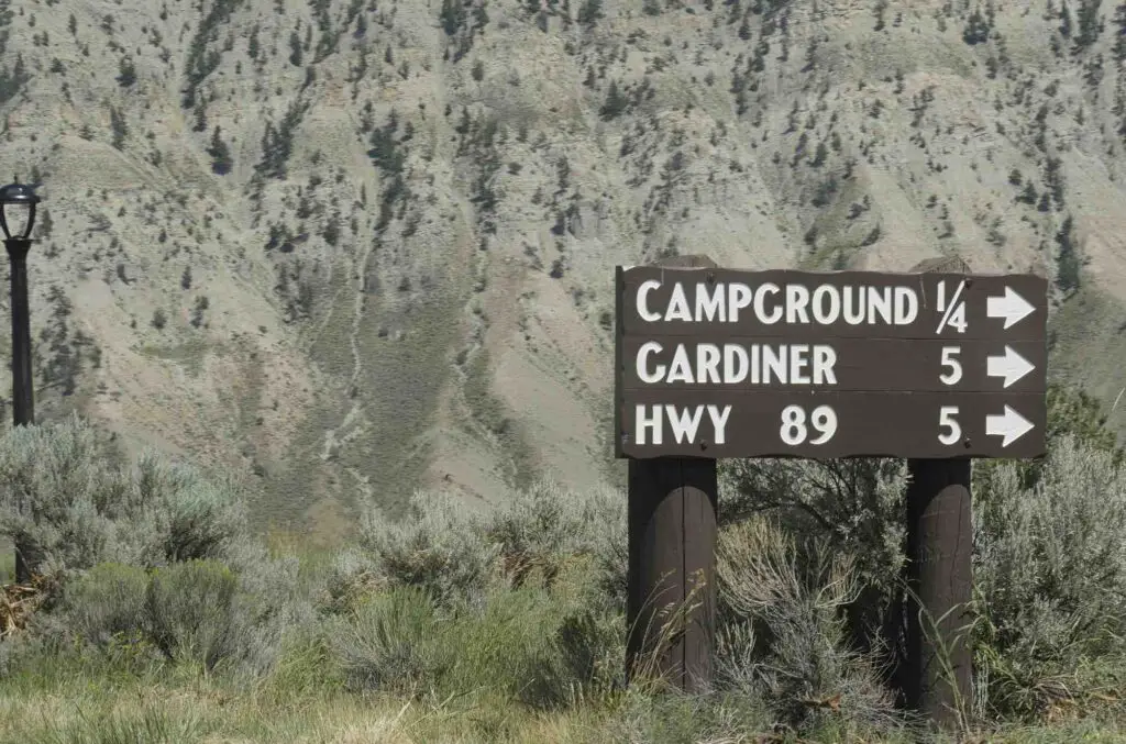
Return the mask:
<svg viewBox="0 0 1126 744">
<path fill-rule="evenodd" d="M 1047 280 L 618 267 L 617 456 L 1045 454 Z"/>
</svg>

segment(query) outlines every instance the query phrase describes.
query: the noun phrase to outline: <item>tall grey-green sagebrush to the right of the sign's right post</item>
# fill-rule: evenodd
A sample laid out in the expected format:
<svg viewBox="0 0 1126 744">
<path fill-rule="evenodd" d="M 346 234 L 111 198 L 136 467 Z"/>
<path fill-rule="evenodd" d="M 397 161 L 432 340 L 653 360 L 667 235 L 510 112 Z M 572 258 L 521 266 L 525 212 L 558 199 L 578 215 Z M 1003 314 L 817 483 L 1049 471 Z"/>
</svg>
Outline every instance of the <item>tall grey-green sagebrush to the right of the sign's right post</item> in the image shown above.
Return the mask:
<svg viewBox="0 0 1126 744">
<path fill-rule="evenodd" d="M 1126 468 L 1115 454 L 1064 434 L 1034 485 L 1004 463 L 982 478 L 975 502 L 977 667 L 986 706 L 1040 712 L 1061 690 L 1080 691 L 1078 675 L 1091 662 L 1121 667 Z"/>
</svg>

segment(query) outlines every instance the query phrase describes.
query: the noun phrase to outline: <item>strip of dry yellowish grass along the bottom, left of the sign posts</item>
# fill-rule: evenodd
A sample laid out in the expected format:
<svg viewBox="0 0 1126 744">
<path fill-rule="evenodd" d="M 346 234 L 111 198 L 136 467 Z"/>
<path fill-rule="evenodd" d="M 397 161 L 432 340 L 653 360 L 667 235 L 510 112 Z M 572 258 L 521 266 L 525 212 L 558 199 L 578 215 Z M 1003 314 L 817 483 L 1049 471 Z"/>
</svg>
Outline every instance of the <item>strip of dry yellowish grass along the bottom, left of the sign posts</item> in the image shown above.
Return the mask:
<svg viewBox="0 0 1126 744">
<path fill-rule="evenodd" d="M 452 711 L 329 690 L 240 693 L 207 680 L 107 689 L 96 680 L 5 694 L 5 744 L 596 742 L 600 716 L 504 707 Z"/>
</svg>

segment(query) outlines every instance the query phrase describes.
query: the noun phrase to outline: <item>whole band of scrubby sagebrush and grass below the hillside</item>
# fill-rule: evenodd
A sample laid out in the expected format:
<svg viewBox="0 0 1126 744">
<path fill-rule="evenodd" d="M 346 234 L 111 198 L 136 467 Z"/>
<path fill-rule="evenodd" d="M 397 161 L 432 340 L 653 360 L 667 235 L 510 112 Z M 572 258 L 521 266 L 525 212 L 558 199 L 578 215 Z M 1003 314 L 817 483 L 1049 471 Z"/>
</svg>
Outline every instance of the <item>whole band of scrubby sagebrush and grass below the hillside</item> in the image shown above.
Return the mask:
<svg viewBox="0 0 1126 744">
<path fill-rule="evenodd" d="M 1126 466 L 1090 398 L 1049 401 L 1044 461 L 975 469 L 967 720 L 994 741 L 1126 720 Z M 617 491 L 537 483 L 493 511 L 419 493 L 312 552 L 254 539 L 235 481 L 153 454 L 122 469 L 98 447 L 78 419 L 0 440 L 0 531 L 36 574 L 0 608 L 2 741 L 918 733 L 872 631 L 901 591 L 902 463 L 723 464 L 716 676 L 689 697 L 624 689 Z"/>
</svg>

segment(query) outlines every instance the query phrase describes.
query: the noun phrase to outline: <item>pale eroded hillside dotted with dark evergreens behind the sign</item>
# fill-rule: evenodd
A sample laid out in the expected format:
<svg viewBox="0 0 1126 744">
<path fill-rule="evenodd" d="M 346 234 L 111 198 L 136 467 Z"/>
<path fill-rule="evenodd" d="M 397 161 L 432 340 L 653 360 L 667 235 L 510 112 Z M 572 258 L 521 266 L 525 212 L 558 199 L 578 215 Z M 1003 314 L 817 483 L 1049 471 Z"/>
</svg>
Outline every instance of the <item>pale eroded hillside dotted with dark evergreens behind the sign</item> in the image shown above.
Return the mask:
<svg viewBox="0 0 1126 744">
<path fill-rule="evenodd" d="M 249 474 L 263 519 L 618 477 L 613 267 L 669 252 L 1043 271 L 1053 376 L 1126 385 L 1126 6 L 0 8 L 39 418 Z"/>
</svg>

